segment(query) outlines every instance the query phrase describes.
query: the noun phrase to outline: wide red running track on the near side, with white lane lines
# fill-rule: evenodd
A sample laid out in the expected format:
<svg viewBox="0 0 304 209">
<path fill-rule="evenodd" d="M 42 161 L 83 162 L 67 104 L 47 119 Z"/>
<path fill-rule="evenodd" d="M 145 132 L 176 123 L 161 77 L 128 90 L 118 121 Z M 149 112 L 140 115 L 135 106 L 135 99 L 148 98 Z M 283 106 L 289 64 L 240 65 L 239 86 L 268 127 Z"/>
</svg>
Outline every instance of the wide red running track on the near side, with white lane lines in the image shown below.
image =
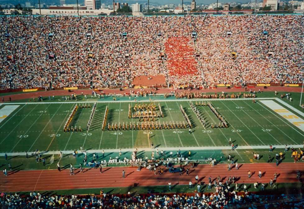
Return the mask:
<svg viewBox="0 0 304 209">
<path fill-rule="evenodd" d="M 298 182 L 297 170 L 304 170 L 304 163 L 281 163 L 276 166 L 275 163 L 254 163 L 254 164 L 239 164 L 239 170 L 228 171 L 227 164 L 216 165 L 198 165 L 193 169 L 190 165 L 185 169 L 190 168 L 189 175 L 186 173 L 169 173 L 168 169 L 164 168 L 164 173 L 154 175 L 147 169 L 136 171 L 137 167 L 108 167 L 103 168 L 103 173 L 100 174 L 99 169 L 84 169 L 84 173 L 80 174 L 79 169 L 75 170 L 75 175 L 70 175 L 70 170 L 26 170 L 13 173 L 8 172 L 8 176 L 1 175 L 0 183 L 1 190 L 4 192 L 25 192 L 25 191 L 54 191 L 61 189 L 83 189 L 83 188 L 109 188 L 109 187 L 133 187 L 134 183 L 138 186 L 160 186 L 168 185 L 188 185 L 189 181 L 195 183 L 195 176 L 198 175 L 202 182 L 208 183 L 208 178 L 211 175 L 212 180 L 219 175 L 223 182 L 226 182 L 229 176 L 239 178 L 237 183 L 254 183 L 263 182 L 269 183 L 269 180 L 274 178 L 273 174 L 278 174 L 277 183 L 292 183 Z M 122 170 L 125 170 L 126 178 L 122 177 Z M 255 172 L 252 177 L 248 178 L 248 170 Z M 259 179 L 259 170 L 263 176 Z M 185 171 L 184 171 L 185 172 Z"/>
</svg>

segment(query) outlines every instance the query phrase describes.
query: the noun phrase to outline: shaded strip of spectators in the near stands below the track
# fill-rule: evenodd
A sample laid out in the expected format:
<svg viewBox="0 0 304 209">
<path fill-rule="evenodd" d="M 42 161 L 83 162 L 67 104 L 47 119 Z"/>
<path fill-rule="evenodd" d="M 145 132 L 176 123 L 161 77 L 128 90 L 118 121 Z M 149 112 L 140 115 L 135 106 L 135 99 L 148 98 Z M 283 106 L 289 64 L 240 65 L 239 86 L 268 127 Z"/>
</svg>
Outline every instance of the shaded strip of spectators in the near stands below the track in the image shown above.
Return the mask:
<svg viewBox="0 0 304 209">
<path fill-rule="evenodd" d="M 127 197 L 103 193 L 101 197 L 91 196 L 61 196 L 42 195 L 31 192 L 30 195 L 20 196 L 15 193 L 1 194 L 1 208 L 179 208 L 179 209 L 207 209 L 207 208 L 303 208 L 304 201 L 299 195 L 256 195 L 253 193 L 239 194 L 226 192 L 218 194 L 202 194 L 201 197 L 186 194 L 170 195 L 128 195 Z M 254 202 L 254 203 L 253 203 Z M 261 207 L 262 206 L 262 207 Z"/>
</svg>

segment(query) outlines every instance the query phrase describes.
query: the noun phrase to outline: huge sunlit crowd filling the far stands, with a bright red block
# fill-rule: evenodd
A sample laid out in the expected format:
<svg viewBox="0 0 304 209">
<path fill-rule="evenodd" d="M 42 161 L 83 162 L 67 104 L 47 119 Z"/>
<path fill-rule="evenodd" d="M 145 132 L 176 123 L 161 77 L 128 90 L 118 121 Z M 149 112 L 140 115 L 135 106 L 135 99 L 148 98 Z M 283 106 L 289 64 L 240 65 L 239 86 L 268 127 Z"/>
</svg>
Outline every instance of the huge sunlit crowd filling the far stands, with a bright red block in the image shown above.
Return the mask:
<svg viewBox="0 0 304 209">
<path fill-rule="evenodd" d="M 171 86 L 298 83 L 303 22 L 303 15 L 2 16 L 1 89 L 130 87 L 139 75 L 164 75 Z"/>
</svg>

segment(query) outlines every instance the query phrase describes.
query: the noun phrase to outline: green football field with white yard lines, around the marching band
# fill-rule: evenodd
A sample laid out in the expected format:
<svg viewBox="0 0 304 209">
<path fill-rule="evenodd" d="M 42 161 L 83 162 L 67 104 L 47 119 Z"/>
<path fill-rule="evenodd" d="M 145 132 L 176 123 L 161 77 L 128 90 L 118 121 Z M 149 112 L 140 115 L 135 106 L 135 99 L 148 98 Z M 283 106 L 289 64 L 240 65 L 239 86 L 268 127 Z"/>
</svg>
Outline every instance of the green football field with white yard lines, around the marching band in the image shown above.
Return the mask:
<svg viewBox="0 0 304 209">
<path fill-rule="evenodd" d="M 212 113 L 208 106 L 198 106 L 200 113 L 206 120 L 206 128 L 200 123 L 198 117 L 190 106 L 191 100 L 176 100 L 174 97 L 164 99 L 162 96 L 149 98 L 139 98 L 135 102 L 129 101 L 129 98 L 120 98 L 113 101 L 113 98 L 107 99 L 85 99 L 78 96 L 78 100 L 62 101 L 56 98 L 54 101 L 48 98 L 40 102 L 14 101 L 4 103 L 0 106 L 3 109 L 9 105 L 19 105 L 0 123 L 1 141 L 0 152 L 33 152 L 39 151 L 71 151 L 83 149 L 91 150 L 109 150 L 109 149 L 132 149 L 132 148 L 151 148 L 151 142 L 154 147 L 164 150 L 187 150 L 195 149 L 229 149 L 229 138 L 234 145 L 246 146 L 289 146 L 302 145 L 304 132 L 297 124 L 292 123 L 287 118 L 282 117 L 271 107 L 263 104 L 263 97 L 267 101 L 281 105 L 289 111 L 292 118 L 303 120 L 303 110 L 299 107 L 300 94 L 293 93 L 293 101 L 280 99 L 279 95 L 274 99 L 273 92 L 263 92 L 257 94 L 256 103 L 252 99 L 216 99 L 203 100 L 210 101 L 223 117 L 228 121 L 228 128 L 211 128 L 211 123 L 219 124 L 219 119 Z M 59 99 L 59 100 L 58 100 Z M 261 100 L 259 100 L 261 99 Z M 139 101 L 140 100 L 140 101 Z M 282 100 L 283 102 L 279 102 Z M 196 100 L 192 100 L 194 103 Z M 197 100 L 202 101 L 202 100 Z M 18 103 L 19 102 L 19 103 Z M 93 103 L 97 102 L 96 111 L 92 119 L 89 132 L 86 130 L 90 118 Z M 75 105 L 90 103 L 91 108 L 78 108 L 71 120 L 73 127 L 81 126 L 82 132 L 64 132 L 63 127 L 67 121 L 71 110 Z M 158 104 L 164 114 L 163 118 L 156 118 L 157 123 L 166 122 L 176 123 L 186 120 L 179 109 L 182 105 L 188 118 L 192 123 L 191 133 L 189 128 L 162 129 L 162 130 L 108 130 L 108 123 L 117 125 L 119 123 L 133 124 L 139 122 L 139 119 L 128 118 L 128 106 L 135 104 L 151 104 L 156 106 L 156 112 L 159 112 Z M 290 105 L 290 106 L 288 106 Z M 106 118 L 105 130 L 102 131 L 102 122 L 106 106 L 108 106 L 108 115 Z M 298 112 L 297 112 L 298 111 Z M 302 113 L 300 114 L 299 113 Z M 288 115 L 287 114 L 287 115 Z M 150 121 L 150 123 L 152 123 Z M 301 122 L 298 122 L 301 125 Z M 141 124 L 141 122 L 139 122 Z M 70 126 L 71 127 L 71 126 Z M 129 127 L 130 128 L 130 127 Z M 149 132 L 149 138 L 147 136 Z"/>
</svg>

